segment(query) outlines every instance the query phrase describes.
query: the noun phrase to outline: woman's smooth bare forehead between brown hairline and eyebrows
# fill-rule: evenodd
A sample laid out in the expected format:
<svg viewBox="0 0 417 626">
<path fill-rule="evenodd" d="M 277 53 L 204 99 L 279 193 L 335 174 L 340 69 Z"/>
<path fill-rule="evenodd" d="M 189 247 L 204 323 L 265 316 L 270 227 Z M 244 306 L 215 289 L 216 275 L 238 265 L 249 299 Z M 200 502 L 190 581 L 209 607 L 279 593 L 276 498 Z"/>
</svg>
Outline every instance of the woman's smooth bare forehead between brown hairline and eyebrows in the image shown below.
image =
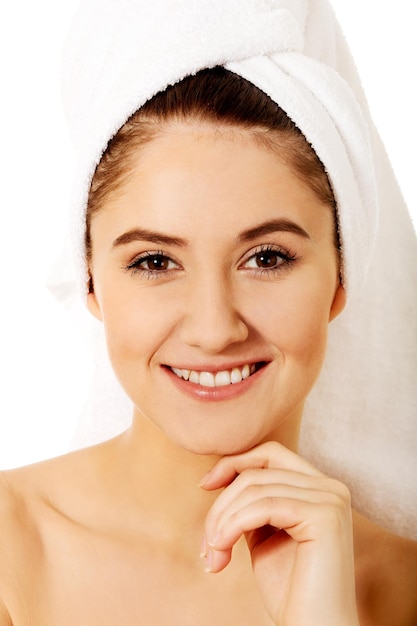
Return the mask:
<svg viewBox="0 0 417 626">
<path fill-rule="evenodd" d="M 232 233 L 284 217 L 311 227 L 331 215 L 288 164 L 285 147 L 264 145 L 253 131 L 172 124 L 133 155 L 129 175 L 92 221 L 179 232 Z M 97 224 L 95 224 L 97 222 Z"/>
</svg>

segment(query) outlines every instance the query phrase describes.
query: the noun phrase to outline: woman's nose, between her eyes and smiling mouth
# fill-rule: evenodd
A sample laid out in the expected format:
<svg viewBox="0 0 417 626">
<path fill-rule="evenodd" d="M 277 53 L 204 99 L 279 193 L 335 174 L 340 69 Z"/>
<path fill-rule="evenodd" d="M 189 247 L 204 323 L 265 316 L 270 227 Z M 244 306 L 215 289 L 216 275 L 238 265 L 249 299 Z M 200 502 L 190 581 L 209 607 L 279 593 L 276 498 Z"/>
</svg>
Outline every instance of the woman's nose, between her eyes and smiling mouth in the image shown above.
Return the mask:
<svg viewBox="0 0 417 626">
<path fill-rule="evenodd" d="M 200 282 L 191 291 L 181 325 L 184 343 L 217 354 L 247 339 L 248 326 L 235 306 L 233 289 L 227 281 Z"/>
</svg>

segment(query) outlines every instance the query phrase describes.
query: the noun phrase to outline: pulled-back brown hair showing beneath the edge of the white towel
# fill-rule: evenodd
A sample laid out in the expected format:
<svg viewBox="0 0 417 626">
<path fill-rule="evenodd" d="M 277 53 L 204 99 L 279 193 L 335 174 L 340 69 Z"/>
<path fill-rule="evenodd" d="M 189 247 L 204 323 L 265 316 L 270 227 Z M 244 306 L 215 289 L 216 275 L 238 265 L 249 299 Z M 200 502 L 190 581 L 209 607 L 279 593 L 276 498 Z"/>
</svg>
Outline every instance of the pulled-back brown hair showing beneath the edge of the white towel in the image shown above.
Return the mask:
<svg viewBox="0 0 417 626">
<path fill-rule="evenodd" d="M 281 155 L 285 150 L 287 165 L 335 211 L 336 202 L 324 166 L 294 122 L 252 83 L 217 66 L 187 76 L 156 94 L 110 139 L 90 187 L 85 234 L 87 261 L 92 254 L 92 216 L 127 180 L 137 150 L 162 133 L 164 123 L 190 119 L 240 127 L 251 131 L 262 145 L 272 150 L 279 147 Z M 337 234 L 335 241 L 337 246 Z"/>
</svg>

